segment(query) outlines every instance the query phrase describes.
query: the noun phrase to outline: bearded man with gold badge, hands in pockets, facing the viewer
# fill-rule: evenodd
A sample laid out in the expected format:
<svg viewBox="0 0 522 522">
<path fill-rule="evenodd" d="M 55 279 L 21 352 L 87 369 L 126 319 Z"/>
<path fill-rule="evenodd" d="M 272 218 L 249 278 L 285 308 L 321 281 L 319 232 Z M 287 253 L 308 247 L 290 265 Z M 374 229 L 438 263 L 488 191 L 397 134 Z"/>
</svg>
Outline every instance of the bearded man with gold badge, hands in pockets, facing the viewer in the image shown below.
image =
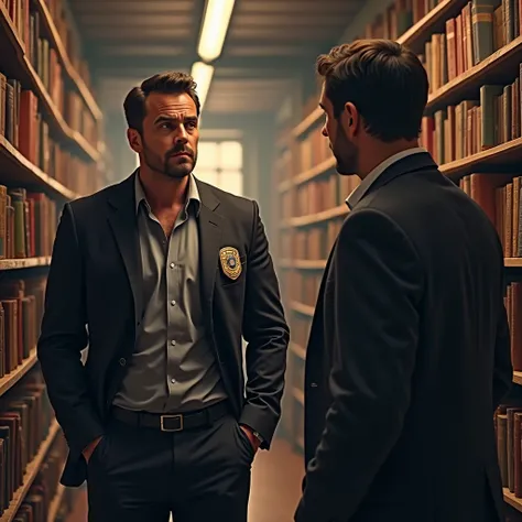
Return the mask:
<svg viewBox="0 0 522 522">
<path fill-rule="evenodd" d="M 39 358 L 62 481 L 87 478 L 95 522 L 246 522 L 280 417 L 289 328 L 267 237 L 255 202 L 193 175 L 195 87 L 167 73 L 129 93 L 139 170 L 65 205 L 56 236 Z"/>
</svg>

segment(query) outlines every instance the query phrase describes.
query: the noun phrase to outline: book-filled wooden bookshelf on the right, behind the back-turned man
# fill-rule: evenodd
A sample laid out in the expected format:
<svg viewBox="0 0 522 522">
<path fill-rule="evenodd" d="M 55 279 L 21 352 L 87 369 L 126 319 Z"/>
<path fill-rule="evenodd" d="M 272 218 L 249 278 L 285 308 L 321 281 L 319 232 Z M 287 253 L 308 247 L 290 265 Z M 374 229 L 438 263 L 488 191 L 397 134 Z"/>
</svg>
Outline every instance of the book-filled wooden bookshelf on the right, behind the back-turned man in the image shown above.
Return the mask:
<svg viewBox="0 0 522 522">
<path fill-rule="evenodd" d="M 505 3 L 515 11 L 509 19 Z M 358 34 L 396 40 L 410 46 L 426 68 L 431 91 L 421 142 L 442 173 L 483 206 L 497 226 L 510 282 L 505 305 L 513 381 L 522 385 L 522 13 L 520 2 L 491 0 L 489 22 L 482 22 L 478 37 L 472 4 L 466 0 L 383 2 L 382 12 Z M 292 333 L 282 424 L 295 449 L 303 449 L 304 360 L 318 286 L 348 213 L 345 199 L 359 184 L 354 176 L 335 172 L 335 159 L 320 135 L 318 98 L 319 93 L 311 97 L 303 113 L 295 115 L 300 121 L 287 129 L 284 140 L 278 140 L 273 166 L 279 195 L 274 213 L 281 217 L 276 265 Z M 522 485 L 522 468 L 520 474 Z M 507 487 L 504 493 L 509 505 L 522 512 L 522 491 Z"/>
</svg>

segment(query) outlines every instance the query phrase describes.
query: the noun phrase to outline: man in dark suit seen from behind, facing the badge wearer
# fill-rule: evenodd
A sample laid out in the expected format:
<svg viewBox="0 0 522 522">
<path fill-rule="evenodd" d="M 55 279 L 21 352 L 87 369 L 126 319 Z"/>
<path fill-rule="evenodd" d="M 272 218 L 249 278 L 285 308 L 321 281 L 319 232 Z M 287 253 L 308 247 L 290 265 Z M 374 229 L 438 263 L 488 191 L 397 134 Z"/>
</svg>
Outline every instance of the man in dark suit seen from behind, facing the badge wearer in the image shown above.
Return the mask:
<svg viewBox="0 0 522 522">
<path fill-rule="evenodd" d="M 306 357 L 296 522 L 502 520 L 493 411 L 511 385 L 503 258 L 417 137 L 424 67 L 358 41 L 323 55 L 339 174 L 357 174 Z"/>
</svg>

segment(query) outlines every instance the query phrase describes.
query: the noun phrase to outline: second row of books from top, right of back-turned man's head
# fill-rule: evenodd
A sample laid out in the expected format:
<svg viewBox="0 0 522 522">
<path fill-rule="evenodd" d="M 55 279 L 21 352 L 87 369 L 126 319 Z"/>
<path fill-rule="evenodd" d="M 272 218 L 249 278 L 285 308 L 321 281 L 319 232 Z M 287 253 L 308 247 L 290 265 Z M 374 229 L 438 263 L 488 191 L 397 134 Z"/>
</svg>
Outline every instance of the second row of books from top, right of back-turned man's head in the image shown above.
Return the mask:
<svg viewBox="0 0 522 522">
<path fill-rule="evenodd" d="M 520 78 L 505 86 L 483 85 L 480 99 L 465 100 L 425 116 L 422 145 L 442 165 L 520 138 Z"/>
</svg>

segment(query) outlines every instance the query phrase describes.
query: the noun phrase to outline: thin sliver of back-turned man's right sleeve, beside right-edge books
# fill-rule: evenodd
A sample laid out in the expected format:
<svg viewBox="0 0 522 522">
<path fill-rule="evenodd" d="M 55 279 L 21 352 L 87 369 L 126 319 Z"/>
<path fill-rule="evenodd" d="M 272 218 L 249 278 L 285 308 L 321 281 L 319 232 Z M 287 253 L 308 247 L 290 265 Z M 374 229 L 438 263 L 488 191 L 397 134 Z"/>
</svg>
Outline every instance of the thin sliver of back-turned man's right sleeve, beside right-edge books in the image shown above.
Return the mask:
<svg viewBox="0 0 522 522">
<path fill-rule="evenodd" d="M 502 286 L 504 286 L 503 282 Z M 513 367 L 511 362 L 511 337 L 508 324 L 508 314 L 505 312 L 503 300 L 501 300 L 499 308 L 500 313 L 494 346 L 493 411 L 499 406 L 502 399 L 508 394 L 508 392 L 513 385 Z"/>
</svg>

